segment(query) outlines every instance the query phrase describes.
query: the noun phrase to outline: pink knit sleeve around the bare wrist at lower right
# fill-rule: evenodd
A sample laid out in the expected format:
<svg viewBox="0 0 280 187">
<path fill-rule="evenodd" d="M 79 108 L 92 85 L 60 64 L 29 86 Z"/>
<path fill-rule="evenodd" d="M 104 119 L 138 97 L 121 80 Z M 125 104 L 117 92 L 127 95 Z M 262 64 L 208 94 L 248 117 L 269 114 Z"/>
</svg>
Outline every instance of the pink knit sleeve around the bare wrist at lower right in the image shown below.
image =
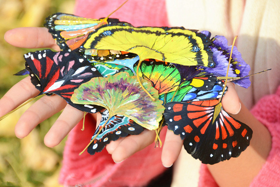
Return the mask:
<svg viewBox="0 0 280 187">
<path fill-rule="evenodd" d="M 272 148 L 259 174 L 251 182 L 251 187 L 280 186 L 280 86 L 275 94 L 264 96 L 252 108 L 251 113 L 263 123 L 271 133 Z M 199 187 L 218 187 L 206 165 L 201 165 Z"/>
</svg>

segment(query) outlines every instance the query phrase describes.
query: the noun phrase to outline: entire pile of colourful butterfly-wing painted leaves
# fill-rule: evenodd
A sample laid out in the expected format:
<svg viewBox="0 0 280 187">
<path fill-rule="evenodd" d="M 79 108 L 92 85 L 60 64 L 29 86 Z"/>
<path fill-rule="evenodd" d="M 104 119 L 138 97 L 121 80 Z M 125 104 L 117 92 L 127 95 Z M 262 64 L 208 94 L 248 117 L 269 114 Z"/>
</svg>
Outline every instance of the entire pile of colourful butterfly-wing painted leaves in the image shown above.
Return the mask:
<svg viewBox="0 0 280 187">
<path fill-rule="evenodd" d="M 180 135 L 188 153 L 206 164 L 237 157 L 249 146 L 252 130 L 229 116 L 220 100 L 229 60 L 230 78 L 247 76 L 250 66 L 236 47 L 230 59 L 224 36 L 64 13 L 48 17 L 44 26 L 61 51 L 25 54 L 26 69 L 18 74 L 29 74 L 40 94 L 101 113 L 90 154 L 160 125 Z M 232 82 L 250 86 L 249 78 Z"/>
</svg>

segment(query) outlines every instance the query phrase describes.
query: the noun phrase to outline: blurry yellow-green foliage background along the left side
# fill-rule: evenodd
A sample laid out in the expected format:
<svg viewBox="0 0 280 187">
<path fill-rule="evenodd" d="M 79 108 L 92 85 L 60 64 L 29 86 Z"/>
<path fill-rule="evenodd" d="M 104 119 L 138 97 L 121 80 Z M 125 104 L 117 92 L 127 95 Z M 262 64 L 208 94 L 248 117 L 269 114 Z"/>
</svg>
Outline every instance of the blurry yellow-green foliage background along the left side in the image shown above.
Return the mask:
<svg viewBox="0 0 280 187">
<path fill-rule="evenodd" d="M 0 97 L 23 79 L 13 76 L 24 69 L 23 54 L 35 51 L 11 46 L 5 42 L 4 33 L 16 27 L 43 26 L 45 17 L 55 12 L 73 13 L 74 5 L 74 0 L 0 0 Z M 60 186 L 58 174 L 65 140 L 54 148 L 43 143 L 58 115 L 18 139 L 14 127 L 28 106 L 0 121 L 0 186 Z"/>
</svg>

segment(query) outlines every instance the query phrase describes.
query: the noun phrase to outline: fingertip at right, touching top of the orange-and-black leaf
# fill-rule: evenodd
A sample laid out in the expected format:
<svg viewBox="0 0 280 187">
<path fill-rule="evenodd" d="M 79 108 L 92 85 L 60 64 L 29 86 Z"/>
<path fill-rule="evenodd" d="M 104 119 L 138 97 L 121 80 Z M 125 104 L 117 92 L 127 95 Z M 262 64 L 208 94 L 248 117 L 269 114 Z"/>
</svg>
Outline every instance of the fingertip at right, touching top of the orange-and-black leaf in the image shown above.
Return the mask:
<svg viewBox="0 0 280 187">
<path fill-rule="evenodd" d="M 237 114 L 240 112 L 241 104 L 236 93 L 235 86 L 232 83 L 227 83 L 226 86 L 228 87 L 228 90 L 222 98 L 222 106 L 226 112 Z"/>
</svg>

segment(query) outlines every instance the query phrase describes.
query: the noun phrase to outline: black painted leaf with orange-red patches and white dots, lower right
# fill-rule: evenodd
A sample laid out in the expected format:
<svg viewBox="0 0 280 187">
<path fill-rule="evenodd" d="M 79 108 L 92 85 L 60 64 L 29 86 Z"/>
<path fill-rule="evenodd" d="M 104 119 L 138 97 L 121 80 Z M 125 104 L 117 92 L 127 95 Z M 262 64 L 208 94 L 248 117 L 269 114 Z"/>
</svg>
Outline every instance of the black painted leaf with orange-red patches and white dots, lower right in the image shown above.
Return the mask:
<svg viewBox="0 0 280 187">
<path fill-rule="evenodd" d="M 238 157 L 250 144 L 252 129 L 229 116 L 218 99 L 165 107 L 168 129 L 180 134 L 186 151 L 204 164 Z"/>
</svg>

